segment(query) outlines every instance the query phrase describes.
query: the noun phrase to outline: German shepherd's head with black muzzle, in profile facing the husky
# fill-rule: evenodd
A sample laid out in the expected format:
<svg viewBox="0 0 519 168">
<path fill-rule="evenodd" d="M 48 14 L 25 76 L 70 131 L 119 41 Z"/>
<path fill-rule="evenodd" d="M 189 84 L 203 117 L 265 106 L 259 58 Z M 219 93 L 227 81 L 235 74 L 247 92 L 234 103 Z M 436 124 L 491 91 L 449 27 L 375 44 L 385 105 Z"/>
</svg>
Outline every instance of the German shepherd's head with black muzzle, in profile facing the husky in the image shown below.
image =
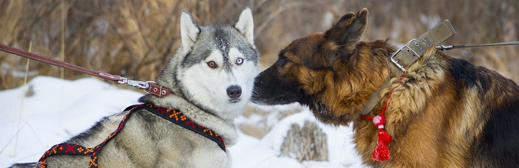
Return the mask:
<svg viewBox="0 0 519 168">
<path fill-rule="evenodd" d="M 347 13 L 329 30 L 292 41 L 274 65 L 255 79 L 252 101 L 299 102 L 321 121 L 348 125 L 360 119 L 368 96 L 389 76 L 386 59 L 396 51 L 387 40 L 359 42 L 367 9 Z"/>
</svg>

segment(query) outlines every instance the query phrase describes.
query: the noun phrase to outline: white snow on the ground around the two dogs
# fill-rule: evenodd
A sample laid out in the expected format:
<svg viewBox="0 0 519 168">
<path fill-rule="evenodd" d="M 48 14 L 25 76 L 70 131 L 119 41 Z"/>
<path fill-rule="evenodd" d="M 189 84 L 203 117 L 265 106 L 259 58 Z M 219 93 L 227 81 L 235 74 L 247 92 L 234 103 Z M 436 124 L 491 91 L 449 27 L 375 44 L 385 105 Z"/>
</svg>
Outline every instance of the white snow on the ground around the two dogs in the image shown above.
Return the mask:
<svg viewBox="0 0 519 168">
<path fill-rule="evenodd" d="M 96 78 L 61 80 L 38 76 L 23 87 L 0 91 L 0 167 L 36 162 L 51 146 L 85 131 L 103 116 L 137 104 L 143 93 L 120 89 Z M 268 107 L 292 108 L 292 106 Z M 302 108 L 302 107 L 299 107 Z M 21 119 L 20 119 L 21 111 Z M 239 117 L 237 123 L 251 122 Z M 303 161 L 280 156 L 283 137 L 292 123 L 317 122 L 308 109 L 276 121 L 263 138 L 239 132 L 239 142 L 228 150 L 233 167 L 362 167 L 351 144 L 349 127 L 319 123 L 328 136 L 329 162 Z M 15 155 L 16 153 L 16 155 Z"/>
</svg>

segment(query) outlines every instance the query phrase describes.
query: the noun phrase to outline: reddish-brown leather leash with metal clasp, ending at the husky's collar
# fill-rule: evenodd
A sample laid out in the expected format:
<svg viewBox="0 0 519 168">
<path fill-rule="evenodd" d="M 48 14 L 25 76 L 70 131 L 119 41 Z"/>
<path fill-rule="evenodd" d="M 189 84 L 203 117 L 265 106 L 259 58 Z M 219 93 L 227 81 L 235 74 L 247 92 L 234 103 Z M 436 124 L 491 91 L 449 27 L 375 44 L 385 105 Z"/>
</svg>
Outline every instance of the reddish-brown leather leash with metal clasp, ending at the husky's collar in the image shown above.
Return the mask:
<svg viewBox="0 0 519 168">
<path fill-rule="evenodd" d="M 6 46 L 3 44 L 0 44 L 0 51 L 15 54 L 20 57 L 28 58 L 28 59 L 31 59 L 34 61 L 43 62 L 46 64 L 70 69 L 75 72 L 79 72 L 79 73 L 95 76 L 98 78 L 110 80 L 115 83 L 129 85 L 131 87 L 143 89 L 146 93 L 154 94 L 159 97 L 167 96 L 172 93 L 171 90 L 169 90 L 168 88 L 162 87 L 160 85 L 157 85 L 154 81 L 128 80 L 127 78 L 121 77 L 119 75 L 112 75 L 112 74 L 104 73 L 101 71 L 95 72 L 95 71 L 92 71 L 92 70 L 84 68 L 84 67 L 72 65 L 72 64 L 69 64 L 66 62 L 51 59 L 51 58 L 45 57 L 43 55 L 39 55 L 39 54 L 32 53 L 29 51 L 24 51 L 24 50 Z"/>
</svg>

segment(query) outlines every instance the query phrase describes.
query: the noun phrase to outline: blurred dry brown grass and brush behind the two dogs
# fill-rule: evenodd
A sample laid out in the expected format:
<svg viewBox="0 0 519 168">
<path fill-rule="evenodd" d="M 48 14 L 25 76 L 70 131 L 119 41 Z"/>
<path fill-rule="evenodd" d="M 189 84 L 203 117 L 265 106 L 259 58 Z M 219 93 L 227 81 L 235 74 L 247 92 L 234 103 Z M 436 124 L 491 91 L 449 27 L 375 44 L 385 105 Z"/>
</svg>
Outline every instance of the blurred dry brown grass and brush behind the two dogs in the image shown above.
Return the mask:
<svg viewBox="0 0 519 168">
<path fill-rule="evenodd" d="M 0 3 L 0 43 L 59 59 L 62 1 L 3 0 Z M 457 34 L 444 44 L 486 44 L 519 40 L 519 4 L 509 1 L 63 1 L 64 61 L 121 75 L 153 80 L 179 46 L 182 9 L 199 24 L 233 23 L 251 6 L 262 67 L 293 39 L 324 31 L 348 11 L 370 11 L 362 40 L 390 37 L 403 44 L 430 26 L 449 19 Z M 421 20 L 420 20 L 421 19 Z M 447 51 L 455 57 L 494 69 L 519 81 L 519 46 Z M 0 53 L 0 90 L 22 85 L 25 60 Z M 57 67 L 30 64 L 29 78 L 59 77 Z M 85 77 L 65 70 L 65 79 Z"/>
</svg>

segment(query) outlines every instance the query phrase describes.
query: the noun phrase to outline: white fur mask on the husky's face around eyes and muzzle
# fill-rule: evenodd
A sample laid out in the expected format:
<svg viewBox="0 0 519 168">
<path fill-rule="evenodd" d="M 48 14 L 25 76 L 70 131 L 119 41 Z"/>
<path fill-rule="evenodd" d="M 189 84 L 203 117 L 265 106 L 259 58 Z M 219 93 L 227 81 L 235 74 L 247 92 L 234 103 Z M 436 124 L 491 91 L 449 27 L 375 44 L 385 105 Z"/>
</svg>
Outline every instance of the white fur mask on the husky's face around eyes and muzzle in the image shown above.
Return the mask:
<svg viewBox="0 0 519 168">
<path fill-rule="evenodd" d="M 240 115 L 251 97 L 254 85 L 251 76 L 255 76 L 257 70 L 251 68 L 255 67 L 255 63 L 245 59 L 236 48 L 231 48 L 228 55 L 230 71 L 223 66 L 223 54 L 213 50 L 205 60 L 179 72 L 178 77 L 182 78 L 181 82 L 186 89 L 184 92 L 190 94 L 192 99 L 221 113 L 218 115 L 223 118 L 234 119 Z M 214 62 L 214 68 L 208 65 L 211 62 Z M 227 94 L 231 86 L 240 88 L 241 95 L 236 99 Z"/>
</svg>

